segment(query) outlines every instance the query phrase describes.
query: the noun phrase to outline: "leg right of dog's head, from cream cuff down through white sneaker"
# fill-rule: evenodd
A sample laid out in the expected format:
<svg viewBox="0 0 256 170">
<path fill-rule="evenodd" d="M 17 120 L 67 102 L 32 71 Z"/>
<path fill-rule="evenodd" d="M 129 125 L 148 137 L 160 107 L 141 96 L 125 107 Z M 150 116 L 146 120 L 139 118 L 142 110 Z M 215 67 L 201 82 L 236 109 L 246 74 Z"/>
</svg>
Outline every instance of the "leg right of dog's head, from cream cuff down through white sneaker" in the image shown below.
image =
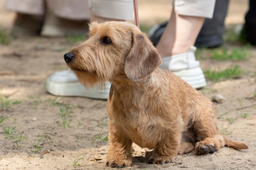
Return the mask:
<svg viewBox="0 0 256 170">
<path fill-rule="evenodd" d="M 215 1 L 207 0 L 175 0 L 171 18 L 156 46 L 163 57 L 159 68 L 172 71 L 194 88 L 206 86 L 193 44 L 204 18 L 212 17 L 214 4 Z"/>
</svg>

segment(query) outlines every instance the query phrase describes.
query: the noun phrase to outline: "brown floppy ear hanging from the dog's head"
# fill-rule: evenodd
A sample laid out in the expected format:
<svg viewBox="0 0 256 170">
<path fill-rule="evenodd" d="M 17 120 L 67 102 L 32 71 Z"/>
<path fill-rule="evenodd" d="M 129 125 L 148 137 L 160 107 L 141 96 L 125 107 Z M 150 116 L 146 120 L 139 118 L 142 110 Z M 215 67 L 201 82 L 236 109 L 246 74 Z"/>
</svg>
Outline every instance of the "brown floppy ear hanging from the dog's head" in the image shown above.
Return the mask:
<svg viewBox="0 0 256 170">
<path fill-rule="evenodd" d="M 129 79 L 140 81 L 161 64 L 157 49 L 143 33 L 132 35 L 132 47 L 126 57 L 124 71 Z"/>
</svg>

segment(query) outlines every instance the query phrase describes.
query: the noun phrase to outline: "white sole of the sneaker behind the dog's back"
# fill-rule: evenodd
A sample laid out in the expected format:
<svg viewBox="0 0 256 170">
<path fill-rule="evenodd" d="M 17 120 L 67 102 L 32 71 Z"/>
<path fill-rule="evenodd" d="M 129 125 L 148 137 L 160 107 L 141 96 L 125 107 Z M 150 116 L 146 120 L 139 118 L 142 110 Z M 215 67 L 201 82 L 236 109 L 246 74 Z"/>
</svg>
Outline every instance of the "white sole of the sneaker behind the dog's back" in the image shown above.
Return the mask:
<svg viewBox="0 0 256 170">
<path fill-rule="evenodd" d="M 175 75 L 179 76 L 193 88 L 202 88 L 206 86 L 206 80 L 201 67 L 192 68 L 189 70 L 181 70 L 173 72 Z"/>
</svg>

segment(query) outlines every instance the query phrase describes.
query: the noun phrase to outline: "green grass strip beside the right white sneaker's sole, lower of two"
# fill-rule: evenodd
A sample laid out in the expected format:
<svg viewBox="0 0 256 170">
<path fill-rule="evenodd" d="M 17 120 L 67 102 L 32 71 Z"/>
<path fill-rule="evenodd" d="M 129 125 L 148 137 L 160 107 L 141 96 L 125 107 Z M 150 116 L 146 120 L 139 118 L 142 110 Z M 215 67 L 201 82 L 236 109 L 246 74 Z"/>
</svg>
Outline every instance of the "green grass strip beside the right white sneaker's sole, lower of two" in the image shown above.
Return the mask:
<svg viewBox="0 0 256 170">
<path fill-rule="evenodd" d="M 204 71 L 204 75 L 208 80 L 219 82 L 227 79 L 239 78 L 242 75 L 242 71 L 239 66 L 233 66 L 232 68 L 227 68 L 223 71 Z"/>
</svg>

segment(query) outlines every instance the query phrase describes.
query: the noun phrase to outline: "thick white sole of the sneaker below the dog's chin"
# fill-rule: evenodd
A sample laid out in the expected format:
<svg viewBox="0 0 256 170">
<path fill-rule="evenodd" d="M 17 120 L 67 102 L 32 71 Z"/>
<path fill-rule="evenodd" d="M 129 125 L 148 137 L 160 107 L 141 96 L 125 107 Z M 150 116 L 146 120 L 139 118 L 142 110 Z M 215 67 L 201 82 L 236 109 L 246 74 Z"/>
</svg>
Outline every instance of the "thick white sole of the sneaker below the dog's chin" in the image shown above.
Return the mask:
<svg viewBox="0 0 256 170">
<path fill-rule="evenodd" d="M 58 83 L 47 79 L 47 91 L 56 96 L 76 96 L 88 97 L 93 99 L 108 99 L 110 84 L 106 84 L 105 89 L 92 88 L 90 90 L 80 84 L 80 82 Z"/>
</svg>

